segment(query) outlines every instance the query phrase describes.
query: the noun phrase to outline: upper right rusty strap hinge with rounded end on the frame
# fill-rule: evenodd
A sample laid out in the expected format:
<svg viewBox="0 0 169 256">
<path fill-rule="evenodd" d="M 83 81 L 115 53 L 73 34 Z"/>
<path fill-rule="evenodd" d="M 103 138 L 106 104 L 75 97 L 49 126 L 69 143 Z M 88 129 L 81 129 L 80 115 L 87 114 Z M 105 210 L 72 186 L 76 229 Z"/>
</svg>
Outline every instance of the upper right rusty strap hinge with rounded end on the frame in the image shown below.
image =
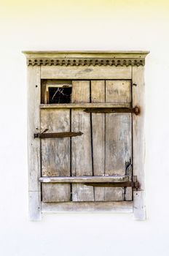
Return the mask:
<svg viewBox="0 0 169 256">
<path fill-rule="evenodd" d="M 87 113 L 134 113 L 136 116 L 140 113 L 140 108 L 86 108 Z"/>
</svg>

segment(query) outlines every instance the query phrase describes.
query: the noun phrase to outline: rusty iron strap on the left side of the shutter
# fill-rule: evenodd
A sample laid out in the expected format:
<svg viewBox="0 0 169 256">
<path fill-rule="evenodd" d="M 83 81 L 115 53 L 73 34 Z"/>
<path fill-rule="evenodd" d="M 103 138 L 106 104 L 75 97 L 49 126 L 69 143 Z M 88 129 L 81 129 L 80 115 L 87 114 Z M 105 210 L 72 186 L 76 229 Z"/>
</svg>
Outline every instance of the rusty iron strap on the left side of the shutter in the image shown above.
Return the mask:
<svg viewBox="0 0 169 256">
<path fill-rule="evenodd" d="M 35 133 L 34 138 L 66 138 L 66 137 L 74 137 L 81 136 L 83 132 L 52 132 L 52 133 Z"/>
</svg>

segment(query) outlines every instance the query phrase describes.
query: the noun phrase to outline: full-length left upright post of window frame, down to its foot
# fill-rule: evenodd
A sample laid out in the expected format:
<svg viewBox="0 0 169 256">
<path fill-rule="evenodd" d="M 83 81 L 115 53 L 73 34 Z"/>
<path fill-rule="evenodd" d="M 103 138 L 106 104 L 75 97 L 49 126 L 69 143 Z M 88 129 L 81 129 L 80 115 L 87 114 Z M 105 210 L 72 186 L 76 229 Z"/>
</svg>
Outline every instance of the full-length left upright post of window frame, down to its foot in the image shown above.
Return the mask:
<svg viewBox="0 0 169 256">
<path fill-rule="evenodd" d="M 34 139 L 34 133 L 40 132 L 40 67 L 28 66 L 28 190 L 29 217 L 41 219 L 41 176 L 40 140 Z M 34 157 L 33 157 L 34 156 Z"/>
</svg>

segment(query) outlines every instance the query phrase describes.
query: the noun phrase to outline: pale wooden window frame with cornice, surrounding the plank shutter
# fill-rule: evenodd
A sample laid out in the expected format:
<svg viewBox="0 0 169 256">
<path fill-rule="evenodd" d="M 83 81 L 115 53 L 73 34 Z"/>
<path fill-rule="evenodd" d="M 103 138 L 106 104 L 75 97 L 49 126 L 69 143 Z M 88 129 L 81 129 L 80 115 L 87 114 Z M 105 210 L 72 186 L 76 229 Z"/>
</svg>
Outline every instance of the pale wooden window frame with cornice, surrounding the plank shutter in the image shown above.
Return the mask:
<svg viewBox="0 0 169 256">
<path fill-rule="evenodd" d="M 146 219 L 144 182 L 144 64 L 147 51 L 130 52 L 37 52 L 23 51 L 28 64 L 28 195 L 29 217 L 40 220 L 44 213 L 114 212 L 133 213 L 135 219 Z M 40 132 L 41 80 L 131 80 L 133 107 L 141 113 L 133 115 L 133 176 L 139 189 L 133 201 L 42 203 L 41 142 L 34 139 Z M 50 108 L 50 105 L 48 105 Z"/>
</svg>

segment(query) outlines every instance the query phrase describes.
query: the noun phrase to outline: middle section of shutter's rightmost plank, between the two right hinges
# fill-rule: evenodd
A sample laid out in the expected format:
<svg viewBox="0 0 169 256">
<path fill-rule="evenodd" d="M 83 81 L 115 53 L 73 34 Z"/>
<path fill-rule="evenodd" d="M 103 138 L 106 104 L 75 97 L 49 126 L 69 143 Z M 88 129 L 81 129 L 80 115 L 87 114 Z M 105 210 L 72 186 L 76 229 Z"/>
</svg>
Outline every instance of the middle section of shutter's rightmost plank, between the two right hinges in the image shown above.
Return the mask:
<svg viewBox="0 0 169 256">
<path fill-rule="evenodd" d="M 125 175 L 131 159 L 131 114 L 106 114 L 107 175 Z"/>
</svg>

